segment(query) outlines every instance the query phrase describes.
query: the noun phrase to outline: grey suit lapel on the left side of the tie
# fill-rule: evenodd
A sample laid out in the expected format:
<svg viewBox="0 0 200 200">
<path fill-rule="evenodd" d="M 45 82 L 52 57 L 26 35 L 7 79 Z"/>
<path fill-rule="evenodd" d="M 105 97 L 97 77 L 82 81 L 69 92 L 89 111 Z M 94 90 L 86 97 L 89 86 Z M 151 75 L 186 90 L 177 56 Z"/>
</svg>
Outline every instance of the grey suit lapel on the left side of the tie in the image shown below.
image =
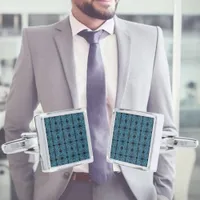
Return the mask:
<svg viewBox="0 0 200 200">
<path fill-rule="evenodd" d="M 75 76 L 75 61 L 73 38 L 69 17 L 59 22 L 55 27 L 54 40 L 62 62 L 63 71 L 68 82 L 74 109 L 78 108 L 78 94 Z"/>
</svg>

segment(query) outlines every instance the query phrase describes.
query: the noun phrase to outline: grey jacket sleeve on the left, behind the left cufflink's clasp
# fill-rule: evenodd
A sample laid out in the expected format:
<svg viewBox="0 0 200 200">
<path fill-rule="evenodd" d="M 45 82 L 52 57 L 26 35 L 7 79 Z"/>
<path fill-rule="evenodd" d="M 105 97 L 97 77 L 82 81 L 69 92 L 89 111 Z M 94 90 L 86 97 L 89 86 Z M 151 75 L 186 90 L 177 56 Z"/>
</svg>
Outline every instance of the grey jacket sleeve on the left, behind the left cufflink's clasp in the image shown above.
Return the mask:
<svg viewBox="0 0 200 200">
<path fill-rule="evenodd" d="M 15 66 L 10 94 L 6 103 L 5 140 L 20 138 L 29 131 L 29 123 L 37 106 L 37 92 L 34 80 L 27 30 L 23 30 L 22 45 Z M 8 155 L 11 177 L 19 200 L 33 197 L 33 165 L 25 153 Z"/>
</svg>

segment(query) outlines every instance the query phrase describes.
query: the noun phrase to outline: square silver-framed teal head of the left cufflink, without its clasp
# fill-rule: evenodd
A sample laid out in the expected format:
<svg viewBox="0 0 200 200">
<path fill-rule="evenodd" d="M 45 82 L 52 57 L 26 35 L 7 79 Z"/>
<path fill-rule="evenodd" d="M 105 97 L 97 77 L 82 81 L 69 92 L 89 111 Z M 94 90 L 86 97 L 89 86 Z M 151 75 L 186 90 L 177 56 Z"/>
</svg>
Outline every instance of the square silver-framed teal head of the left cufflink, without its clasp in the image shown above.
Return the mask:
<svg viewBox="0 0 200 200">
<path fill-rule="evenodd" d="M 43 171 L 93 161 L 85 110 L 47 113 L 35 118 Z"/>
</svg>

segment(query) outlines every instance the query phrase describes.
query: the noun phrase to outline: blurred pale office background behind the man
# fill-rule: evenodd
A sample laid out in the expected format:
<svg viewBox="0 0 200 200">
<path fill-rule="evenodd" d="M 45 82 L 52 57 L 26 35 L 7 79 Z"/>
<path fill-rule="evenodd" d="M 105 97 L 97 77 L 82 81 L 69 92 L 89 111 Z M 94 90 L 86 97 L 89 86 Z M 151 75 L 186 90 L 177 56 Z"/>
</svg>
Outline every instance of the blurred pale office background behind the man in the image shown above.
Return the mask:
<svg viewBox="0 0 200 200">
<path fill-rule="evenodd" d="M 177 87 L 174 91 L 180 99 L 175 110 L 180 116 L 180 135 L 200 140 L 200 1 L 182 0 L 182 5 L 176 1 L 180 2 L 121 0 L 117 12 L 124 19 L 163 29 L 172 80 L 173 68 L 178 67 L 173 66 L 174 5 L 181 6 L 181 78 L 180 90 Z M 70 0 L 0 0 L 0 145 L 4 142 L 5 101 L 20 50 L 22 29 L 55 23 L 70 12 L 70 7 Z M 171 82 L 173 86 L 176 81 Z M 6 157 L 0 151 L 0 200 L 16 200 L 7 166 Z M 177 170 L 175 200 L 199 200 L 200 149 L 180 151 Z"/>
</svg>

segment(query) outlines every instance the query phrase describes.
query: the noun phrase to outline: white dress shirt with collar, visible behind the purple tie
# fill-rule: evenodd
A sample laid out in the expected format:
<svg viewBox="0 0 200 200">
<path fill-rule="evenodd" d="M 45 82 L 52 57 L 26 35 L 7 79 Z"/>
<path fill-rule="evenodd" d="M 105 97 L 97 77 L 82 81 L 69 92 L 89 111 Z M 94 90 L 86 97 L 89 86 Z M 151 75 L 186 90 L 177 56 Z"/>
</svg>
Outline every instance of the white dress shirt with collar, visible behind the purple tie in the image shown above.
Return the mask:
<svg viewBox="0 0 200 200">
<path fill-rule="evenodd" d="M 84 29 L 90 30 L 84 24 L 80 23 L 72 14 L 69 16 L 74 47 L 75 59 L 75 77 L 78 90 L 79 107 L 86 107 L 86 84 L 87 84 L 87 60 L 89 54 L 88 42 L 78 33 Z M 100 48 L 104 63 L 106 78 L 106 99 L 108 120 L 111 122 L 112 110 L 115 106 L 118 76 L 118 55 L 117 40 L 114 34 L 114 20 L 107 20 L 97 30 L 103 29 L 109 35 L 100 40 Z M 90 30 L 91 31 L 91 30 Z M 113 165 L 114 171 L 120 171 L 117 165 Z M 88 164 L 74 167 L 75 172 L 88 172 Z"/>
</svg>

